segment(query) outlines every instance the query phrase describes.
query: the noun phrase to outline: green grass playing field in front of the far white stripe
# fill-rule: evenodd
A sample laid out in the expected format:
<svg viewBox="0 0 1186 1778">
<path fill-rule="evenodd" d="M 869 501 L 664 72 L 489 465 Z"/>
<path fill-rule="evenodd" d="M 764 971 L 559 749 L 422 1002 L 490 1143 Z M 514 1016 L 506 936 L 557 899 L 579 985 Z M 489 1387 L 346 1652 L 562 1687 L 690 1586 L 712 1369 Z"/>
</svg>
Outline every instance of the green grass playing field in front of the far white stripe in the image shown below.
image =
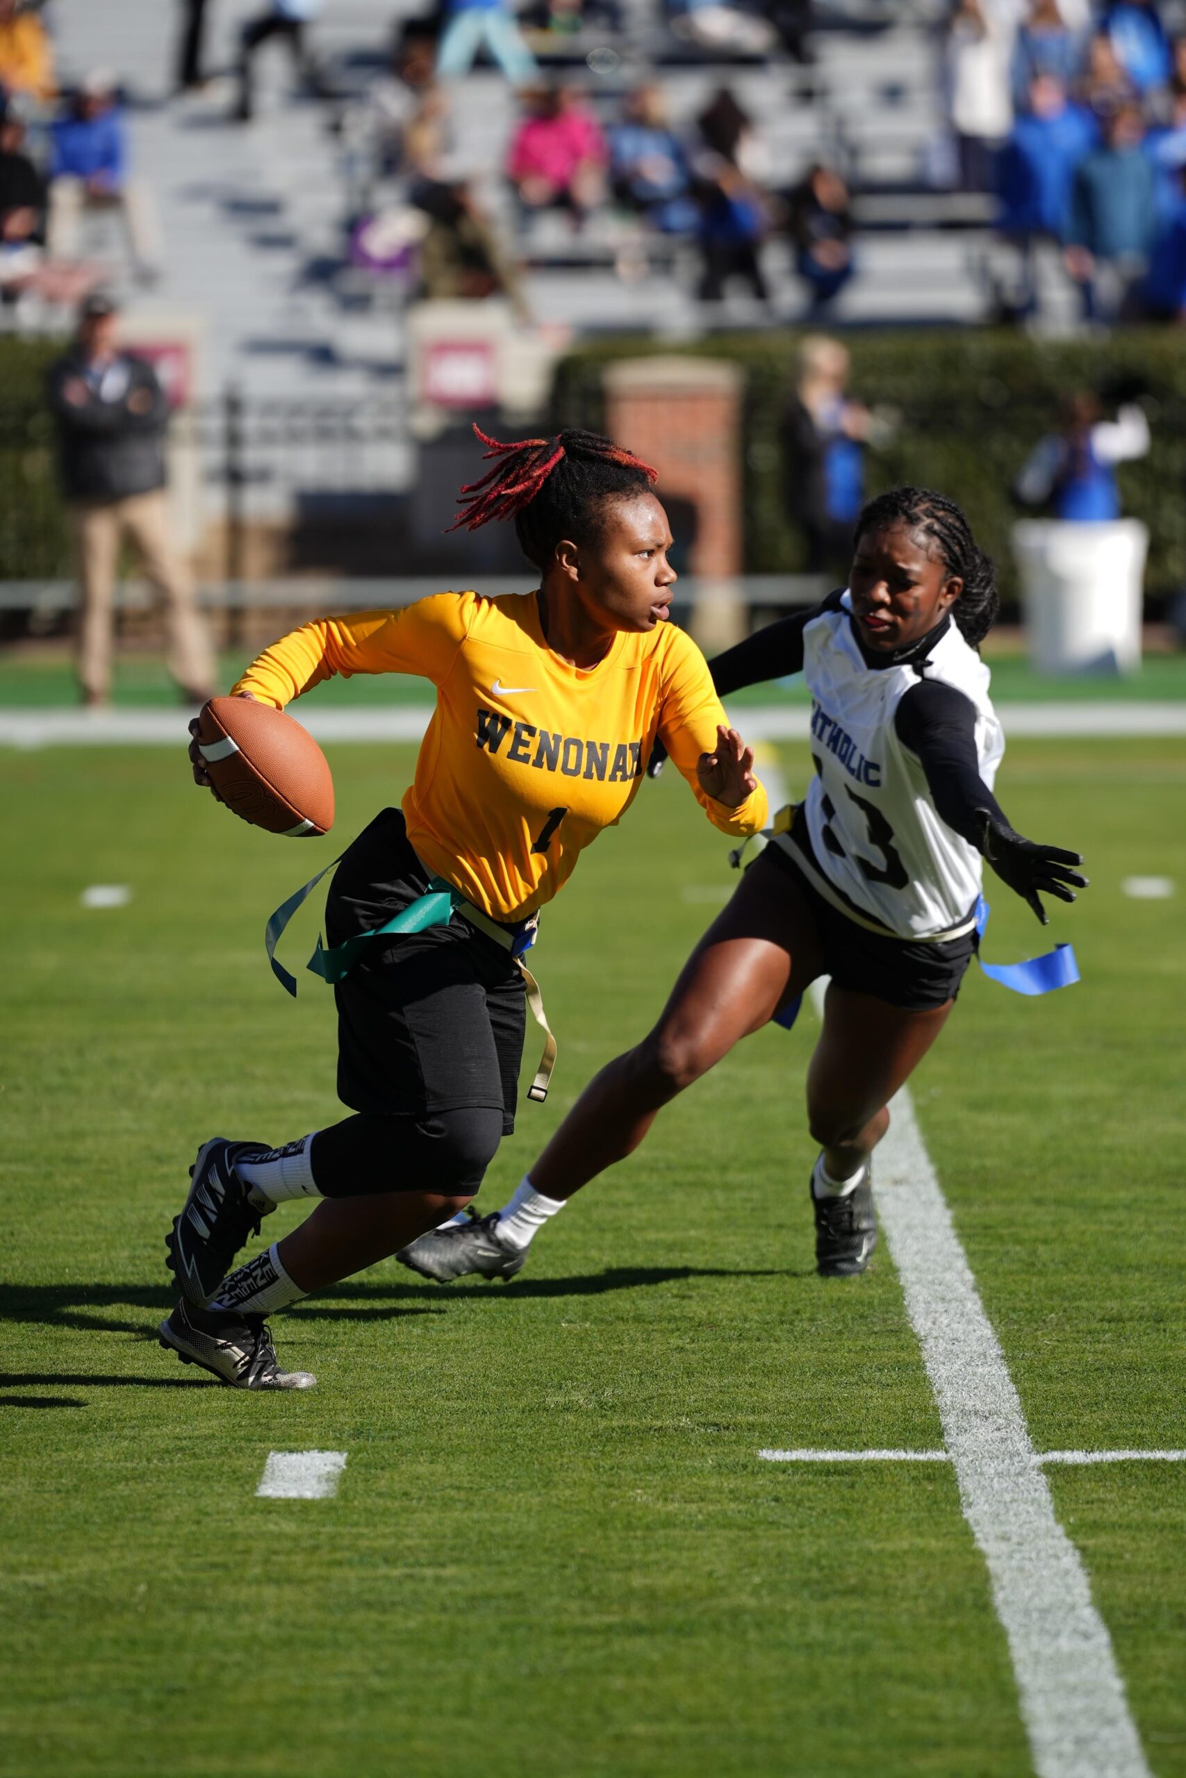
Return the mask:
<svg viewBox="0 0 1186 1778">
<path fill-rule="evenodd" d="M 281 994 L 263 921 L 398 798 L 411 750 L 331 763 L 338 832 L 286 846 L 169 750 L 0 754 L 0 1773 L 1028 1773 L 953 1472 L 757 1460 L 942 1442 L 885 1252 L 852 1284 L 813 1271 L 809 1012 L 670 1109 L 512 1285 L 389 1262 L 279 1319 L 311 1394 L 236 1394 L 158 1350 L 197 1143 L 340 1115 L 331 997 Z M 804 749 L 781 765 L 804 782 Z M 999 788 L 1088 857 L 1053 923 L 1083 983 L 1022 1001 L 969 974 L 919 1122 L 1035 1446 L 1182 1447 L 1186 743 L 1015 743 Z M 667 773 L 548 910 L 557 1085 L 484 1207 L 642 1033 L 724 852 Z M 1126 898 L 1136 873 L 1177 898 Z M 91 884 L 132 900 L 84 909 Z M 996 889 L 989 957 L 1046 948 Z M 272 1449 L 347 1451 L 338 1497 L 256 1499 Z M 1149 1764 L 1186 1774 L 1186 1465 L 1051 1488 Z"/>
</svg>

